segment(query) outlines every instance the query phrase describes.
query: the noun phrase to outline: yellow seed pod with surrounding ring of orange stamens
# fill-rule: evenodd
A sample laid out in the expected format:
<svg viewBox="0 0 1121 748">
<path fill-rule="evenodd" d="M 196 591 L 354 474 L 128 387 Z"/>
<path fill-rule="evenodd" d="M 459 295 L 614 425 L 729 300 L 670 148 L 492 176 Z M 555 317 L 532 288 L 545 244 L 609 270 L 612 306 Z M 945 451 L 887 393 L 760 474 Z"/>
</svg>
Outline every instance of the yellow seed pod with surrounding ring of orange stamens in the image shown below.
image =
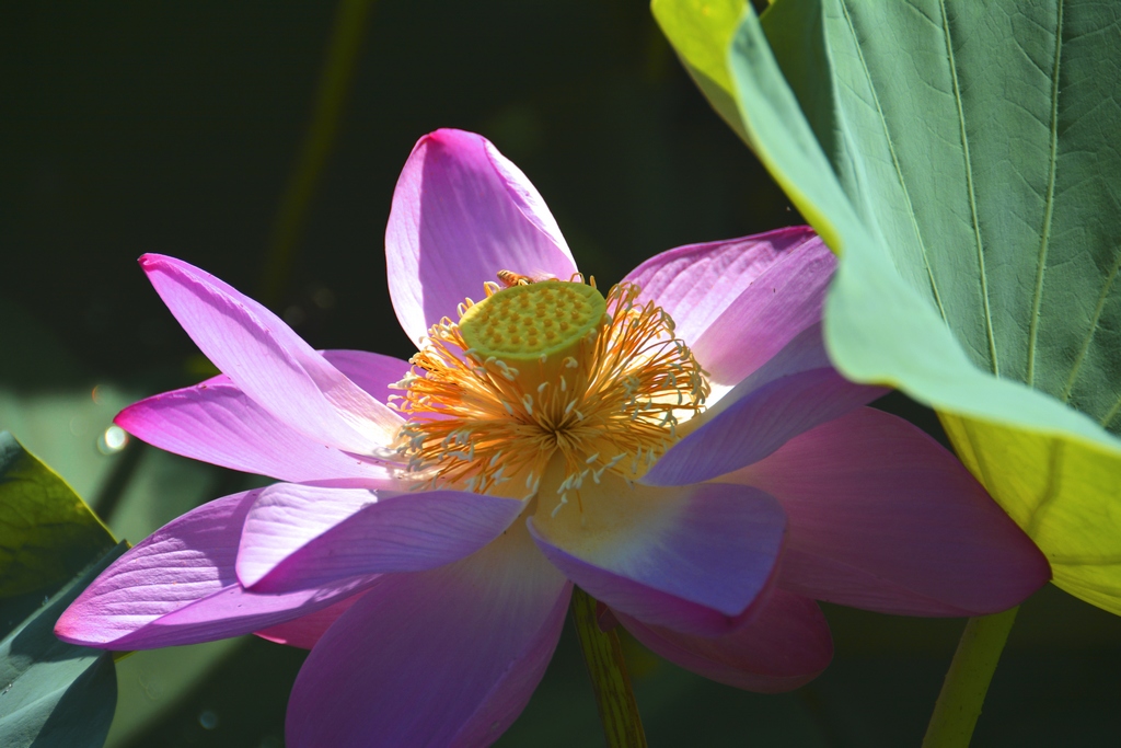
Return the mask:
<svg viewBox="0 0 1121 748">
<path fill-rule="evenodd" d="M 604 298 L 594 281 L 512 277 L 428 331 L 393 398 L 408 417 L 399 451 L 433 486 L 554 495 L 555 512 L 604 472 L 641 477 L 704 407 L 708 382 L 637 286 Z"/>
</svg>

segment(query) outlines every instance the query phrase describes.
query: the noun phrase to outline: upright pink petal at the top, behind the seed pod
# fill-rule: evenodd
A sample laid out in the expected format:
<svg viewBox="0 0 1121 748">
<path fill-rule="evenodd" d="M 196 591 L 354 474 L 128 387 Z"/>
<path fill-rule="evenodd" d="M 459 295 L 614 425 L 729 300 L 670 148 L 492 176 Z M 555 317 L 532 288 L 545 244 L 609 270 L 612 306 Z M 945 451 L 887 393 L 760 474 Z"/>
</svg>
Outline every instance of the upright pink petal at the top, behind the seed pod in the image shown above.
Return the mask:
<svg viewBox="0 0 1121 748">
<path fill-rule="evenodd" d="M 572 252 L 545 201 L 485 138 L 437 130 L 420 138 L 393 192 L 386 229 L 389 293 L 419 343 L 499 270 L 567 280 Z"/>
</svg>

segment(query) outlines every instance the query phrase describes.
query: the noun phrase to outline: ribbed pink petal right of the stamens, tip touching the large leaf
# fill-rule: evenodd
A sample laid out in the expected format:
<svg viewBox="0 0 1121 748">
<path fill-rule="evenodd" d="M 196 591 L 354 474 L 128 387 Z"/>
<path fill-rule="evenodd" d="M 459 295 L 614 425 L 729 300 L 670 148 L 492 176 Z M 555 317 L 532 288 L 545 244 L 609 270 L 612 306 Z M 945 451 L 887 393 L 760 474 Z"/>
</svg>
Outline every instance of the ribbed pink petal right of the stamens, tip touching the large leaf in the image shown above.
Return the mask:
<svg viewBox="0 0 1121 748">
<path fill-rule="evenodd" d="M 714 385 L 734 386 L 821 321 L 835 267 L 812 229 L 794 227 L 678 247 L 627 280 L 669 313 Z"/>
</svg>

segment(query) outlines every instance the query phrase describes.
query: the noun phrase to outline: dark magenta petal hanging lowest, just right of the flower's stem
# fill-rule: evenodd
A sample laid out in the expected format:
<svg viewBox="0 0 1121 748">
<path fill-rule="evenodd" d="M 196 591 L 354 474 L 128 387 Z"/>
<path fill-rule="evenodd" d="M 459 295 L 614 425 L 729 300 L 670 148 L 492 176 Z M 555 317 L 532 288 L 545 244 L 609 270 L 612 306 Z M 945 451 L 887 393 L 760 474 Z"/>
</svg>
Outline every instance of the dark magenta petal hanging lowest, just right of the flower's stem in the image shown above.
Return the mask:
<svg viewBox="0 0 1121 748">
<path fill-rule="evenodd" d="M 772 590 L 747 626 L 724 636 L 689 636 L 623 615 L 619 621 L 669 662 L 760 693 L 805 685 L 833 658 L 833 638 L 821 608 L 809 598 L 782 590 Z"/>
</svg>

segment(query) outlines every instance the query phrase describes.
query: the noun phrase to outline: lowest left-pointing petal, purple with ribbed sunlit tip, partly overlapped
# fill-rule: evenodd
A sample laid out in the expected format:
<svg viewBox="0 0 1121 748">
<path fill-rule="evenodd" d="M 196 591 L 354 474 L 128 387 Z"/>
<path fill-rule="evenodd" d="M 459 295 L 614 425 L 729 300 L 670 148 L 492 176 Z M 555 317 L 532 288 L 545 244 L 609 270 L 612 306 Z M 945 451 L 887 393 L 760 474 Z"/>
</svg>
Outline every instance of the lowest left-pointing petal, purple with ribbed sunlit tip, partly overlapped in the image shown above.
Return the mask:
<svg viewBox="0 0 1121 748">
<path fill-rule="evenodd" d="M 212 641 L 306 616 L 353 595 L 377 576 L 291 594 L 238 584 L 238 536 L 259 490 L 215 499 L 165 525 L 86 588 L 55 626 L 64 641 L 151 649 Z"/>
</svg>

